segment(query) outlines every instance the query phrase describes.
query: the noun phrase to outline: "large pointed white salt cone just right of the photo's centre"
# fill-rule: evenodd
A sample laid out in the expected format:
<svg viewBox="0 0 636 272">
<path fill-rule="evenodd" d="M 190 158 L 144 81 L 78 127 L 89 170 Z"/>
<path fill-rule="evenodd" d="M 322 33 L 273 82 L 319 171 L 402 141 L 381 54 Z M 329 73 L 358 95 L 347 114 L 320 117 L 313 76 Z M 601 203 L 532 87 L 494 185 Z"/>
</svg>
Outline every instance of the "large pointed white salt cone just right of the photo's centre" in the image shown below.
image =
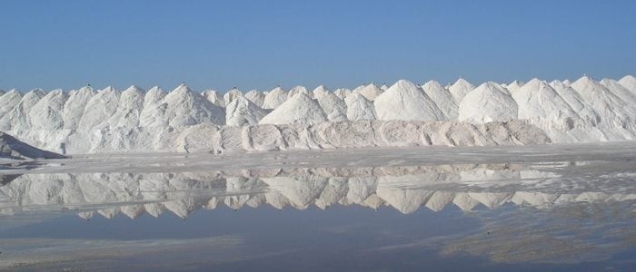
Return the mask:
<svg viewBox="0 0 636 272">
<path fill-rule="evenodd" d="M 442 121 L 445 116 L 415 84 L 400 80 L 373 101 L 379 120 Z"/>
</svg>

